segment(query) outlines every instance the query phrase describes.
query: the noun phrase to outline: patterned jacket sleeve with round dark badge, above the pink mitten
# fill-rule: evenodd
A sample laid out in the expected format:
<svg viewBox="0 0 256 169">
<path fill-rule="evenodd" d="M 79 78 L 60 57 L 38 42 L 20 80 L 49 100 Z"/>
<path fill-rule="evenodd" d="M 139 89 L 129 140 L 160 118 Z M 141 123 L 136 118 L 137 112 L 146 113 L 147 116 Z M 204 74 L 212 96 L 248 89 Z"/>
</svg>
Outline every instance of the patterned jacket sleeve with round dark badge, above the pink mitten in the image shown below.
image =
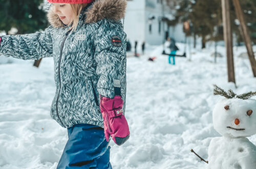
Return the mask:
<svg viewBox="0 0 256 169">
<path fill-rule="evenodd" d="M 126 93 L 126 34 L 121 22 L 101 20 L 96 32 L 95 55 L 96 74 L 99 77 L 99 95 L 114 98 L 114 83 L 121 85 L 122 98 Z"/>
</svg>

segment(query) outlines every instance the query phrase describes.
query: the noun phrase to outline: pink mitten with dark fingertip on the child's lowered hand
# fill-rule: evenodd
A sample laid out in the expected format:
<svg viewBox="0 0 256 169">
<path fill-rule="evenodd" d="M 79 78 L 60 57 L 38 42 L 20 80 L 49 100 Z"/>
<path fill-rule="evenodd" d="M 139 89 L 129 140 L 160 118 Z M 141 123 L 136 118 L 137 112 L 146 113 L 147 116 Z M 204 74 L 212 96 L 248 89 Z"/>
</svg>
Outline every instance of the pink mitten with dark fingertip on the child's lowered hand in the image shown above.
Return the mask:
<svg viewBox="0 0 256 169">
<path fill-rule="evenodd" d="M 121 96 L 110 99 L 101 97 L 100 111 L 103 117 L 106 141 L 110 136 L 117 145 L 122 145 L 130 137 L 128 123 L 123 115 L 123 100 Z"/>
</svg>

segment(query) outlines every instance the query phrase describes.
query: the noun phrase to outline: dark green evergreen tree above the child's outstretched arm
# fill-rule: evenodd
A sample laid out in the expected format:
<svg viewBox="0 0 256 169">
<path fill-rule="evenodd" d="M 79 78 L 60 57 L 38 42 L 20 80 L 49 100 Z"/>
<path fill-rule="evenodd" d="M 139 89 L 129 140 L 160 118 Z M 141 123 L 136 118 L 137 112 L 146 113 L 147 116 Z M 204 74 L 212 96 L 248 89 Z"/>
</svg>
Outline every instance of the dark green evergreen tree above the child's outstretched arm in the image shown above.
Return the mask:
<svg viewBox="0 0 256 169">
<path fill-rule="evenodd" d="M 0 0 L 0 30 L 14 27 L 17 34 L 33 33 L 48 26 L 43 0 Z"/>
</svg>

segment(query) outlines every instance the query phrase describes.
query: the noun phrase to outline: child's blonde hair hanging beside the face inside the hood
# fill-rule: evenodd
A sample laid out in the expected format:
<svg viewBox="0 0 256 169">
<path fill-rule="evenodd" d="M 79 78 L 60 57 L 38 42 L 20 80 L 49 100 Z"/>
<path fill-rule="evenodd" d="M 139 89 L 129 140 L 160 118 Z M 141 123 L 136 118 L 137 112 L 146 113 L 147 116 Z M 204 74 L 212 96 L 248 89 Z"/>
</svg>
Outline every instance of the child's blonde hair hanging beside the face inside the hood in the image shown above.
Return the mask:
<svg viewBox="0 0 256 169">
<path fill-rule="evenodd" d="M 75 31 L 78 26 L 79 15 L 80 15 L 82 9 L 87 6 L 87 4 L 70 4 L 70 6 L 74 13 L 74 18 L 73 18 L 73 22 L 71 22 L 68 26 L 72 25 L 69 30 Z"/>
</svg>

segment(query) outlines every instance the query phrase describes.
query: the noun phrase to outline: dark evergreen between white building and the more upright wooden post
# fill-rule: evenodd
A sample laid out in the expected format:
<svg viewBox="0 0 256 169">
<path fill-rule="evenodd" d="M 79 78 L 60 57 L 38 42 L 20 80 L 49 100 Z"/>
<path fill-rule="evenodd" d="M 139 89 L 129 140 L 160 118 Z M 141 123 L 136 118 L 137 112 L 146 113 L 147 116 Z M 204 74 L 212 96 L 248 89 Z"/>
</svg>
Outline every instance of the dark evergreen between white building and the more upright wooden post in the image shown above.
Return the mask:
<svg viewBox="0 0 256 169">
<path fill-rule="evenodd" d="M 171 0 L 169 0 L 171 1 Z M 221 25 L 221 6 L 219 0 L 184 0 L 180 1 L 176 12 L 176 19 L 170 25 L 189 20 L 192 27 L 191 32 L 185 32 L 186 36 L 196 35 L 202 37 L 202 48 L 205 43 L 214 37 L 214 29 Z"/>
</svg>

